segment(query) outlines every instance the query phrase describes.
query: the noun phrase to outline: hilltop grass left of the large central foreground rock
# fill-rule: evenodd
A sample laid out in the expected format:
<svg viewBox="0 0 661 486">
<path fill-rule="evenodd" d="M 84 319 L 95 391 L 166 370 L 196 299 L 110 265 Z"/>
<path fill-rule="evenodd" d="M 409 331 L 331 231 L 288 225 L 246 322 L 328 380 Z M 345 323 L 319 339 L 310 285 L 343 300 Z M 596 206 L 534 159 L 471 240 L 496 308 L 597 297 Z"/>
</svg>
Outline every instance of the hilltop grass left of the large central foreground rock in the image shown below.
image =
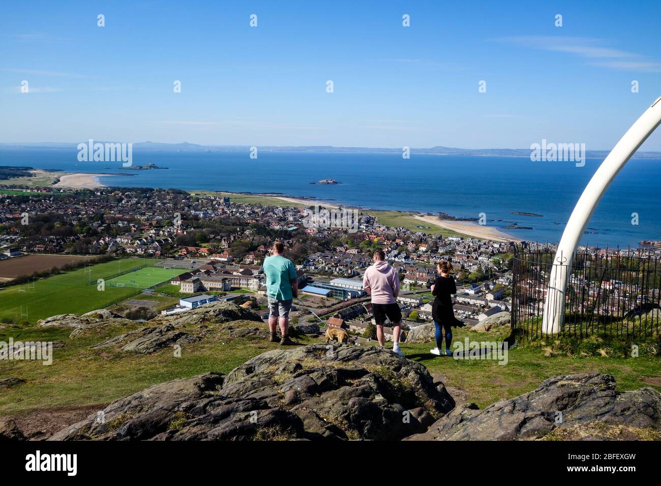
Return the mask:
<svg viewBox="0 0 661 486">
<path fill-rule="evenodd" d="M 266 325 L 250 321 L 250 326 Z M 234 323 L 233 325 L 237 325 Z M 54 349 L 53 364 L 44 366 L 37 361 L 7 361 L 0 368 L 0 379 L 17 376 L 26 383 L 0 393 L 0 416 L 27 413 L 30 409 L 65 405 L 109 403 L 154 384 L 194 376 L 206 372 L 227 373 L 262 352 L 281 348 L 265 339 L 228 339 L 226 335 L 212 335 L 194 344 L 184 344 L 176 358 L 172 348 L 143 355 L 124 352 L 119 348 L 91 349 L 108 337 L 144 327 L 144 323 L 130 326 L 108 326 L 89 330 L 69 339 L 71 328 L 11 327 L 0 329 L 0 341 L 64 341 L 63 348 Z M 182 328 L 198 333 L 199 329 Z M 214 329 L 215 332 L 215 329 Z M 295 341 L 311 344 L 309 337 L 295 337 Z"/>
</svg>

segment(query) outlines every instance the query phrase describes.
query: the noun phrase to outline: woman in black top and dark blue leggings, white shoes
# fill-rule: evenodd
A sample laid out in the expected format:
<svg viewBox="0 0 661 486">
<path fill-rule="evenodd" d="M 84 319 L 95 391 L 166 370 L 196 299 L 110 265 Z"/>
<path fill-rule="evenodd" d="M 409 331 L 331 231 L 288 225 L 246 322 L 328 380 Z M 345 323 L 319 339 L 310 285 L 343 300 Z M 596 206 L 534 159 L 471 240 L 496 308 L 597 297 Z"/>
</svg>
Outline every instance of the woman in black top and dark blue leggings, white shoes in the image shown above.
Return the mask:
<svg viewBox="0 0 661 486">
<path fill-rule="evenodd" d="M 451 296 L 457 293 L 457 286 L 454 278 L 449 274 L 452 270 L 449 262 L 442 261 L 438 263 L 436 270 L 438 271 L 438 277 L 432 285 L 432 296 L 434 296 L 432 318 L 434 319 L 434 327 L 436 327 L 436 348 L 430 350 L 430 352 L 442 356 L 443 337 L 445 336 L 445 354 L 451 356 L 452 327 L 463 326 L 463 322 L 454 317 L 452 309 Z"/>
</svg>

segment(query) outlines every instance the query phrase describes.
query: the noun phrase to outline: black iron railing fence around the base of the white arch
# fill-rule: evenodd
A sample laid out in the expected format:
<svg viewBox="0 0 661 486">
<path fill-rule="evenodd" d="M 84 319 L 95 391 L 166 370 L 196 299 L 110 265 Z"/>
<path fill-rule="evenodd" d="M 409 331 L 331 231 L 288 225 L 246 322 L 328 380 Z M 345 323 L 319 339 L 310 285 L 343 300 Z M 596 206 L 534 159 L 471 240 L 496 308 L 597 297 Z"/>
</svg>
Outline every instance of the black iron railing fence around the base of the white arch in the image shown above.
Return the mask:
<svg viewBox="0 0 661 486">
<path fill-rule="evenodd" d="M 555 253 L 514 256 L 512 331 L 517 339 L 543 337 L 544 304 L 554 272 L 567 276 L 560 335 L 646 337 L 661 324 L 661 257 L 642 252 L 576 253 L 570 266 L 553 266 Z M 563 261 L 568 261 L 563 259 Z"/>
</svg>

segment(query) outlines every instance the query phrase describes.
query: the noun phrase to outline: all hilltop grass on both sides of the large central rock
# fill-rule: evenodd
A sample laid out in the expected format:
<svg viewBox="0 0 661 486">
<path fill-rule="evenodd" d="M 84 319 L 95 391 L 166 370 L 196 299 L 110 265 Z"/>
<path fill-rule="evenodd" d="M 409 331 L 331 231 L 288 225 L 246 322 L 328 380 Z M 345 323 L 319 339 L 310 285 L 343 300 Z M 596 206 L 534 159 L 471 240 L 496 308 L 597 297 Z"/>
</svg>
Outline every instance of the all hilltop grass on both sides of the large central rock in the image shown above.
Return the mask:
<svg viewBox="0 0 661 486">
<path fill-rule="evenodd" d="M 263 323 L 232 323 L 261 326 Z M 0 329 L 0 341 L 63 341 L 65 345 L 54 349 L 51 366 L 35 361 L 7 361 L 0 368 L 0 378 L 17 377 L 26 383 L 0 393 L 0 416 L 28 413 L 40 407 L 64 405 L 91 405 L 109 403 L 114 399 L 136 393 L 153 384 L 194 376 L 205 372 L 227 373 L 253 356 L 280 348 L 263 338 L 229 339 L 219 334 L 221 326 L 212 325 L 212 333 L 202 341 L 184 344 L 180 358 L 173 356 L 171 348 L 150 355 L 122 352 L 116 348 L 91 349 L 108 337 L 143 327 L 144 323 L 112 325 L 102 329 L 88 329 L 69 339 L 70 328 L 7 326 Z M 183 328 L 191 333 L 198 329 Z M 474 333 L 465 329 L 454 330 L 454 341 L 469 337 L 472 341 L 502 341 L 508 333 L 500 329 L 490 333 Z M 296 337 L 301 344 L 323 342 L 321 339 Z M 369 345 L 369 344 L 363 344 Z M 391 346 L 391 344 L 389 344 Z M 424 364 L 432 374 L 438 374 L 444 384 L 455 387 L 480 407 L 500 399 L 521 395 L 535 389 L 551 376 L 582 372 L 602 372 L 615 376 L 617 389 L 625 391 L 652 386 L 661 391 L 661 360 L 658 356 L 641 355 L 639 358 L 616 356 L 546 356 L 543 348 L 517 346 L 509 350 L 508 362 L 500 365 L 496 360 L 455 360 L 429 353 L 432 343 L 401 344 L 407 358 Z M 656 380 L 650 380 L 654 379 Z M 457 393 L 456 391 L 453 393 Z"/>
</svg>

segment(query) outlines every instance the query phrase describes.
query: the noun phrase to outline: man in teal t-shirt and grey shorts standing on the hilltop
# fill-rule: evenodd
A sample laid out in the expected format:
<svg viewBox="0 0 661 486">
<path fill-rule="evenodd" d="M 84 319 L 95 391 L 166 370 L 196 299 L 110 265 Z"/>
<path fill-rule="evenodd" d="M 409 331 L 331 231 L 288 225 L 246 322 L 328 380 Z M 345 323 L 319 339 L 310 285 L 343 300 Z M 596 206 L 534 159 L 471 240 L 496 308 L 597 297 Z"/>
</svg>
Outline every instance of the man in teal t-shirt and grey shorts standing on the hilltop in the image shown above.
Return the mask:
<svg viewBox="0 0 661 486">
<path fill-rule="evenodd" d="M 292 299 L 298 297 L 298 274 L 292 261 L 282 256 L 284 245 L 280 241 L 273 245 L 273 255 L 266 257 L 262 264 L 266 275 L 266 298 L 268 299 L 268 339 L 278 341 L 276 326 L 280 320 L 282 339 L 280 344 L 292 344 L 289 339 L 289 313 Z"/>
</svg>

